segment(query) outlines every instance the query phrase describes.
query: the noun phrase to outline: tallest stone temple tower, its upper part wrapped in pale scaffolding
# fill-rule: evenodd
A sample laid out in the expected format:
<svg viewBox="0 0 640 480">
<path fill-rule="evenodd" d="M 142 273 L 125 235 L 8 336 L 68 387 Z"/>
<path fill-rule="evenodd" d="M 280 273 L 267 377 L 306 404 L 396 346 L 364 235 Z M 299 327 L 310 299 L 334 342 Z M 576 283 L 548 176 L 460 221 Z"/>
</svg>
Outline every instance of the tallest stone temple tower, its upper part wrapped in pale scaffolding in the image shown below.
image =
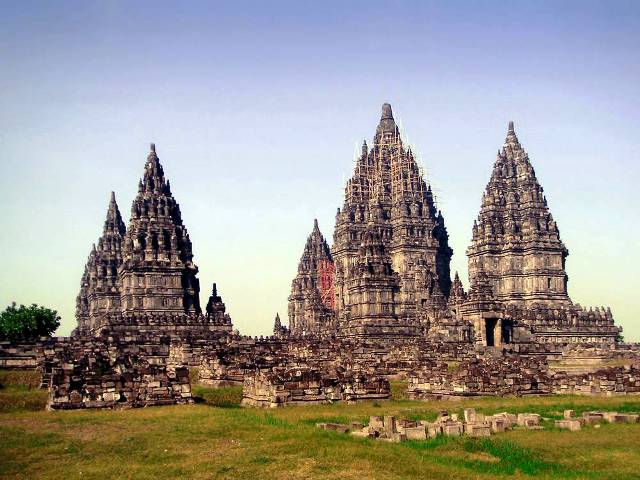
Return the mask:
<svg viewBox="0 0 640 480">
<path fill-rule="evenodd" d="M 413 323 L 410 331 L 421 331 L 420 324 L 428 323 L 430 312 L 441 308 L 449 295 L 453 252 L 431 187 L 413 152 L 403 144 L 389 104 L 382 107 L 371 148 L 366 142 L 362 146 L 336 215 L 331 252 L 336 265 L 336 314 L 344 331 L 349 331 L 352 320 L 351 293 L 357 291 L 351 275 L 359 271 L 367 229 L 376 230 L 397 276 L 392 303 L 398 325 L 405 330 Z"/>
</svg>

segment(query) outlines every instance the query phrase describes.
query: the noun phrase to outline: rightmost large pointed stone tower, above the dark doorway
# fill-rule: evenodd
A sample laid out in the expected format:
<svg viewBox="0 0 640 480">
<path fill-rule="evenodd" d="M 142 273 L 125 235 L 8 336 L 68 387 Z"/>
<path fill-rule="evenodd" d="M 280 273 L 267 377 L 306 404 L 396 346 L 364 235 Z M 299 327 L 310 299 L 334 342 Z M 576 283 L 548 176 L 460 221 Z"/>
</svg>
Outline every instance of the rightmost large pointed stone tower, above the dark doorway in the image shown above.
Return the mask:
<svg viewBox="0 0 640 480">
<path fill-rule="evenodd" d="M 496 300 L 569 305 L 565 259 L 543 189 L 509 122 L 467 249 L 469 279 L 486 275 Z"/>
</svg>

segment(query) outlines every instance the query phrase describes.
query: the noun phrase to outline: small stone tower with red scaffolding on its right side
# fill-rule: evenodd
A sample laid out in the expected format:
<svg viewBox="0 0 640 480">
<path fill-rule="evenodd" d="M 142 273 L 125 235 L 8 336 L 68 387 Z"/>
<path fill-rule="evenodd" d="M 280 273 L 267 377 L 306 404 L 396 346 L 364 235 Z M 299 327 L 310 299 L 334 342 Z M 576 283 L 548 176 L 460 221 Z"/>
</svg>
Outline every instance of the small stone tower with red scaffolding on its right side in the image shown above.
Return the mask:
<svg viewBox="0 0 640 480">
<path fill-rule="evenodd" d="M 289 329 L 292 335 L 318 334 L 334 328 L 333 274 L 329 245 L 318 221 L 314 220 L 298 264 L 298 274 L 291 282 Z"/>
</svg>

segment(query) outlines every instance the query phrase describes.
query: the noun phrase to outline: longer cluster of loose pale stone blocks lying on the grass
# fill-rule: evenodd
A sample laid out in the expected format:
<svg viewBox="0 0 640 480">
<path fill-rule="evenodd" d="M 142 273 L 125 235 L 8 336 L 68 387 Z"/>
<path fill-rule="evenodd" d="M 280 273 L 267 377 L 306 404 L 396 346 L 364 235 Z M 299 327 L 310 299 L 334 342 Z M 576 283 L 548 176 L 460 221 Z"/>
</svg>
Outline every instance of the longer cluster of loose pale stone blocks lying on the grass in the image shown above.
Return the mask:
<svg viewBox="0 0 640 480">
<path fill-rule="evenodd" d="M 438 414 L 435 422 L 425 420 L 397 419 L 395 416 L 372 416 L 369 424 L 352 422 L 349 425 L 338 423 L 318 423 L 317 428 L 351 433 L 359 437 L 377 438 L 389 442 L 404 442 L 406 440 L 426 440 L 438 435 L 470 437 L 488 437 L 494 433 L 504 432 L 514 426 L 528 429 L 540 429 L 542 417 L 535 413 L 497 413 L 484 415 L 473 408 L 464 410 L 464 418 L 457 414 L 449 415 L 443 410 Z"/>
</svg>

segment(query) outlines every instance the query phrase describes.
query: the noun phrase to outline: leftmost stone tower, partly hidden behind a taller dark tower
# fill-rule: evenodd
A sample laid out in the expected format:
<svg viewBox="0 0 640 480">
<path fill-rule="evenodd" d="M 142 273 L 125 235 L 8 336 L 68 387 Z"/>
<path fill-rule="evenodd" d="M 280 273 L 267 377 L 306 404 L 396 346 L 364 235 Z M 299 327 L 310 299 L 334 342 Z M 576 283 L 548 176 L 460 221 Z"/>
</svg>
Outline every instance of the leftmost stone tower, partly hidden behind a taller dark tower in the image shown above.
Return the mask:
<svg viewBox="0 0 640 480">
<path fill-rule="evenodd" d="M 120 311 L 118 270 L 122 265 L 122 242 L 126 228 L 111 192 L 111 200 L 98 245 L 93 245 L 76 299 L 78 329 L 91 330 L 97 320 Z"/>
</svg>

